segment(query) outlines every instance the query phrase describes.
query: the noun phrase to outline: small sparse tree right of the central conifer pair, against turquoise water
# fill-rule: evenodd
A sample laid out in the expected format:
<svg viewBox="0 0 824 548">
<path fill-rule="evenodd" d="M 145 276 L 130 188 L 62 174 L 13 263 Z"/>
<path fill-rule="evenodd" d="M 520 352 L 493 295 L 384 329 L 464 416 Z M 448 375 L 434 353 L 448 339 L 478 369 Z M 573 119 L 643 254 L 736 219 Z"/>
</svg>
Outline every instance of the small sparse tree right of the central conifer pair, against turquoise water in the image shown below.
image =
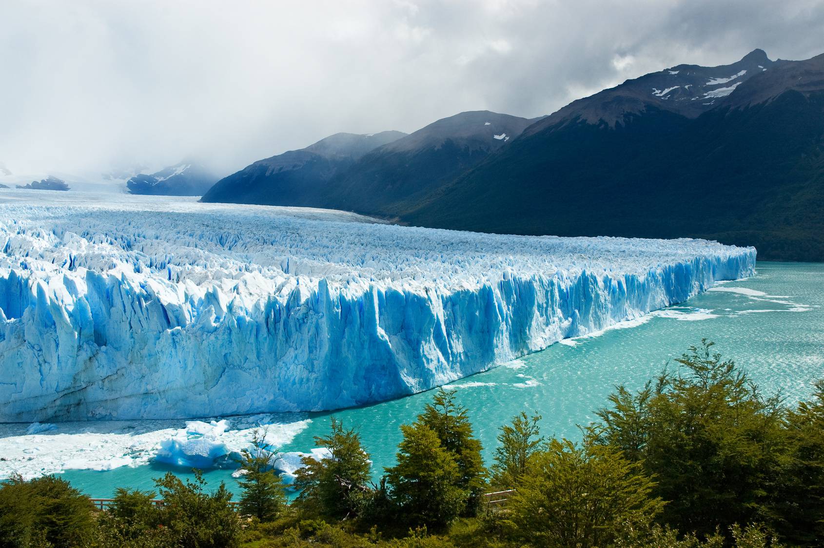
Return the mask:
<svg viewBox="0 0 824 548">
<path fill-rule="evenodd" d="M 499 447 L 495 449 L 492 483 L 496 487 L 513 488 L 527 471 L 527 461 L 543 445 L 538 422 L 541 415 L 528 418 L 523 411 L 513 417 L 512 425 L 505 424 L 498 434 Z"/>
</svg>

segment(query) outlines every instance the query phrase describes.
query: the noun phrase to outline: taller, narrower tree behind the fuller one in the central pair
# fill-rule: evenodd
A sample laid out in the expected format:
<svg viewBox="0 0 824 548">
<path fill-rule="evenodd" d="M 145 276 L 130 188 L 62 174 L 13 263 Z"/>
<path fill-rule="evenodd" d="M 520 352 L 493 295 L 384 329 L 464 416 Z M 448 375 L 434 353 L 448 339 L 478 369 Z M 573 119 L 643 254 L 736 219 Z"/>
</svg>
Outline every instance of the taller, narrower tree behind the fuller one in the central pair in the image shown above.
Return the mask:
<svg viewBox="0 0 824 548">
<path fill-rule="evenodd" d="M 456 391 L 438 388 L 432 403 L 418 415 L 418 422 L 431 429 L 441 442 L 441 447 L 452 453 L 460 479 L 457 486 L 466 490 L 466 513 L 475 515 L 480 508 L 486 485 L 486 469 L 480 456 L 480 441 L 474 437 L 466 407 L 455 401 Z"/>
</svg>

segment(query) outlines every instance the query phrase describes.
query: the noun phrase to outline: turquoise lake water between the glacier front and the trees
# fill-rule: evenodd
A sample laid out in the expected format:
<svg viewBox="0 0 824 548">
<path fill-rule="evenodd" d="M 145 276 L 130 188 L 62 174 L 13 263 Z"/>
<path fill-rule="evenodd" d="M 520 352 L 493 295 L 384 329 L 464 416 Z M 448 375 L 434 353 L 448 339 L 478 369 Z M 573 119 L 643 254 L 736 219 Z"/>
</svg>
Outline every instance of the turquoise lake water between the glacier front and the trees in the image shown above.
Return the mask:
<svg viewBox="0 0 824 548">
<path fill-rule="evenodd" d="M 759 263 L 752 279 L 726 283 L 639 325 L 555 344 L 542 352 L 455 382 L 457 398 L 469 410 L 489 463 L 501 424 L 521 410 L 543 416 L 546 434 L 578 439 L 578 424 L 588 424 L 617 384 L 631 388 L 661 371 L 702 337 L 734 358 L 765 391 L 781 389 L 788 402 L 806 397 L 812 381 L 824 377 L 824 265 Z M 748 292 L 750 294 L 742 294 Z M 736 293 L 737 292 L 737 293 Z M 308 451 L 313 437 L 327 432 L 330 416 L 360 429 L 374 471 L 395 461 L 400 424 L 414 420 L 430 393 L 334 413 L 302 414 L 306 429 L 282 447 Z M 288 420 L 288 418 L 286 419 Z M 64 477 L 94 497 L 110 496 L 116 486 L 149 489 L 152 477 L 170 466 L 121 467 L 114 471 L 66 471 Z M 215 485 L 224 480 L 236 490 L 232 471 L 207 471 Z"/>
</svg>

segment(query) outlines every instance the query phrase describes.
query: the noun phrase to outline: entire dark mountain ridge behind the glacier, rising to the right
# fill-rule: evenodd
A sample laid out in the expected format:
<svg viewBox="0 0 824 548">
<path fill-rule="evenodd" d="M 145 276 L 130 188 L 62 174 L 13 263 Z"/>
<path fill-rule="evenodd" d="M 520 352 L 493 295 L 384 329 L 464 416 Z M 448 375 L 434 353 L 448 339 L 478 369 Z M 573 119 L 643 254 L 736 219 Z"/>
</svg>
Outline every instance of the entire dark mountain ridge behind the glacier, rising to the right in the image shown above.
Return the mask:
<svg viewBox="0 0 824 548">
<path fill-rule="evenodd" d="M 824 260 L 824 54 L 682 63 L 539 119 L 468 111 L 345 166 L 302 150 L 273 157 L 301 167 L 277 185 L 241 171 L 204 201 L 477 232 L 705 237 L 762 259 Z"/>
</svg>

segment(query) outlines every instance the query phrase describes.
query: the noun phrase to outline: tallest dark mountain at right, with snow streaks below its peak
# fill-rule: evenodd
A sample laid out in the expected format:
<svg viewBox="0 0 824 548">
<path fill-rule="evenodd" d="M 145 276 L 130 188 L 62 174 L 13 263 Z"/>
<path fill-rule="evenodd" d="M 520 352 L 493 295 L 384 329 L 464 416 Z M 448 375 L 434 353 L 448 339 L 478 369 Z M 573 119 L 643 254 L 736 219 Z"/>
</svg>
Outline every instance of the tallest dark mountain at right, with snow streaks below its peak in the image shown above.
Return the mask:
<svg viewBox="0 0 824 548">
<path fill-rule="evenodd" d="M 558 236 L 703 237 L 824 260 L 824 55 L 679 65 L 574 101 L 403 222 Z"/>
</svg>

